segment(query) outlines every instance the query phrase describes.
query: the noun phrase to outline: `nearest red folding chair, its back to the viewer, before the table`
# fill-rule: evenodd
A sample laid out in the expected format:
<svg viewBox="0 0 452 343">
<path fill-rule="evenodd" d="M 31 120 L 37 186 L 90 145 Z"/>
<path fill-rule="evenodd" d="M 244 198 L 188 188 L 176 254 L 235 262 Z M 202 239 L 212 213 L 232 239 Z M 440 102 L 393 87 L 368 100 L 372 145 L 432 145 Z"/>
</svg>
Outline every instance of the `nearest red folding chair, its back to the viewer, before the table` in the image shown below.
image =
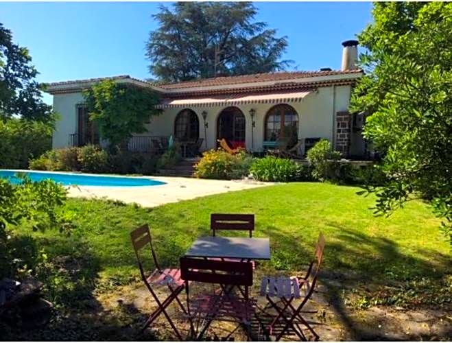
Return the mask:
<svg viewBox="0 0 452 343">
<path fill-rule="evenodd" d="M 239 322 L 239 325 L 228 334 L 226 340 L 241 324 L 246 327 L 248 338 L 250 337 L 250 322 L 256 309 L 256 300 L 250 298 L 248 292 L 248 287 L 252 286 L 252 265 L 250 262 L 181 257 L 180 272 L 182 279 L 185 280 L 189 318 L 198 320 L 196 331 L 199 329 L 200 322 L 204 323 L 199 332 L 193 332 L 196 340 L 202 339 L 202 335 L 213 320 Z M 202 294 L 190 300 L 189 281 L 219 284 L 222 286 L 222 292 Z M 243 297 L 232 294 L 231 289 L 224 285 L 244 287 Z"/>
</svg>

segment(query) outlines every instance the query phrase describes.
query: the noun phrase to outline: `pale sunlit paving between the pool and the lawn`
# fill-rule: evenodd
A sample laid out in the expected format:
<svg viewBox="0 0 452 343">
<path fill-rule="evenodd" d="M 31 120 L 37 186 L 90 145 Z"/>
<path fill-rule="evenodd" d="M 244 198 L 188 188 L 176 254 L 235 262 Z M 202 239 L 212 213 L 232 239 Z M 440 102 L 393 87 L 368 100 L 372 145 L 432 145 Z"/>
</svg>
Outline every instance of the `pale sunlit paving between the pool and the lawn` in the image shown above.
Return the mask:
<svg viewBox="0 0 452 343">
<path fill-rule="evenodd" d="M 169 202 L 189 200 L 212 194 L 240 191 L 266 185 L 272 182 L 254 180 L 205 180 L 199 178 L 152 177 L 166 182 L 165 185 L 145 187 L 98 187 L 79 186 L 69 189 L 69 196 L 84 198 L 108 198 L 122 202 L 154 207 Z"/>
</svg>

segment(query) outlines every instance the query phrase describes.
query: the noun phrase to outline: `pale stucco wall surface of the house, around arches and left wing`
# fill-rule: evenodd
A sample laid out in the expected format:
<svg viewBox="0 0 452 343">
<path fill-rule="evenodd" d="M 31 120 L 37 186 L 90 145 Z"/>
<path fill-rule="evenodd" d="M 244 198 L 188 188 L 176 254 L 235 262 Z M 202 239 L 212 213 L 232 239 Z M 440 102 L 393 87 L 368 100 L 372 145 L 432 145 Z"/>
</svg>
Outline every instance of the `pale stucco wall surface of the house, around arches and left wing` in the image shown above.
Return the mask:
<svg viewBox="0 0 452 343">
<path fill-rule="evenodd" d="M 81 93 L 54 95 L 53 106 L 60 113 L 61 119 L 56 125 L 53 134 L 53 148 L 65 147 L 69 142 L 69 134 L 77 131 L 76 106 L 83 102 Z M 337 111 L 348 109 L 350 103 L 350 86 L 320 87 L 317 91 L 310 93 L 301 102 L 287 102 L 293 106 L 298 113 L 299 130 L 298 138 L 325 138 L 334 141 L 335 117 Z M 237 106 L 241 109 L 246 119 L 246 147 L 248 150 L 259 152 L 263 150 L 264 121 L 265 115 L 274 104 L 248 104 Z M 215 107 L 187 107 L 198 115 L 200 123 L 200 137 L 204 139 L 202 150 L 215 147 L 217 140 L 217 118 L 226 106 Z M 256 111 L 252 129 L 249 111 Z M 183 108 L 169 108 L 163 110 L 158 117 L 152 117 L 147 124 L 148 132 L 143 136 L 169 136 L 174 134 L 174 120 Z M 204 133 L 204 121 L 202 111 L 207 111 L 206 134 Z"/>
</svg>

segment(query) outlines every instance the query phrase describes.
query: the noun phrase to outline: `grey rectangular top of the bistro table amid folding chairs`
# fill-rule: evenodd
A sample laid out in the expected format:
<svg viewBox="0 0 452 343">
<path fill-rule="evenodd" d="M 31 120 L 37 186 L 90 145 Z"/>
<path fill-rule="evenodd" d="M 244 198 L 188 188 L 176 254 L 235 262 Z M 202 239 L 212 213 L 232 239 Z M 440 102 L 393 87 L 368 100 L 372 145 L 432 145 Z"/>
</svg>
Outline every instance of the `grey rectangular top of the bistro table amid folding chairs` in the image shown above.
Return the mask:
<svg viewBox="0 0 452 343">
<path fill-rule="evenodd" d="M 187 257 L 225 259 L 270 259 L 270 239 L 207 236 L 198 238 L 185 254 Z"/>
</svg>

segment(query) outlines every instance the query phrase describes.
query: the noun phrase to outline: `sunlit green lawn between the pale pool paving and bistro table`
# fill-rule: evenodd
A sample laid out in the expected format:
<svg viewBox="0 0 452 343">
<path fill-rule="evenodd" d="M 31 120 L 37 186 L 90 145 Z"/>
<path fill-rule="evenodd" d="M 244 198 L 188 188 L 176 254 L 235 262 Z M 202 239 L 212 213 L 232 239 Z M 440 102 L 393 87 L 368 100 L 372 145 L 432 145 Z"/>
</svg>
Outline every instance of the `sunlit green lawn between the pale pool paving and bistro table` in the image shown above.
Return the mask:
<svg viewBox="0 0 452 343">
<path fill-rule="evenodd" d="M 256 237 L 270 237 L 272 261 L 267 268 L 300 270 L 309 261 L 318 234 L 326 237 L 324 268 L 356 272 L 380 279 L 444 271 L 449 245 L 438 231 L 439 221 L 421 202 L 410 202 L 389 218 L 370 211 L 373 197 L 357 196 L 357 187 L 293 183 L 224 193 L 167 204 L 155 209 L 99 200 L 71 199 L 76 213 L 71 237 L 36 233 L 51 255 L 73 244 L 84 246 L 99 263 L 102 278 L 136 275 L 130 231 L 150 224 L 158 257 L 166 264 L 178 258 L 196 237 L 210 235 L 213 212 L 254 213 Z"/>
</svg>

